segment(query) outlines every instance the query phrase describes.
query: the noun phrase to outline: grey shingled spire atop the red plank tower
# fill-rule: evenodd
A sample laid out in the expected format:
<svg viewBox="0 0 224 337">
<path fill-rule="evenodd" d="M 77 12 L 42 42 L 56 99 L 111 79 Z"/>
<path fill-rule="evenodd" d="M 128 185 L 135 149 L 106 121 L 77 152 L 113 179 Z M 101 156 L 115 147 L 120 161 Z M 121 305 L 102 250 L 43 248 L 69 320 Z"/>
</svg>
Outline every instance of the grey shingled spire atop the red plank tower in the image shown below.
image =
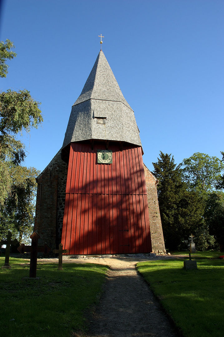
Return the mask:
<svg viewBox="0 0 224 337">
<path fill-rule="evenodd" d="M 104 124 L 99 124 L 103 119 Z M 72 142 L 105 140 L 141 146 L 134 112 L 102 51 L 72 105 L 62 148 Z"/>
</svg>

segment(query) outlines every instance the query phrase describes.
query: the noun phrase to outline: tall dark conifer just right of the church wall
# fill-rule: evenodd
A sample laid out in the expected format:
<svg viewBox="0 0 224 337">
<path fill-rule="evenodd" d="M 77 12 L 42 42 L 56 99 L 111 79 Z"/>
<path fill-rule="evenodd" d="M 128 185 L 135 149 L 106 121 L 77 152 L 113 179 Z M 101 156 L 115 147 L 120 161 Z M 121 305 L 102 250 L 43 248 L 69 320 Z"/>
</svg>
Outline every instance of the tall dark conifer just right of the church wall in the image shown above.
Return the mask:
<svg viewBox="0 0 224 337">
<path fill-rule="evenodd" d="M 158 201 L 165 247 L 169 250 L 186 248 L 190 233 L 203 225 L 200 197 L 187 190 L 181 164 L 175 164 L 171 154 L 160 152 L 153 166 L 153 174 L 159 180 Z"/>
</svg>

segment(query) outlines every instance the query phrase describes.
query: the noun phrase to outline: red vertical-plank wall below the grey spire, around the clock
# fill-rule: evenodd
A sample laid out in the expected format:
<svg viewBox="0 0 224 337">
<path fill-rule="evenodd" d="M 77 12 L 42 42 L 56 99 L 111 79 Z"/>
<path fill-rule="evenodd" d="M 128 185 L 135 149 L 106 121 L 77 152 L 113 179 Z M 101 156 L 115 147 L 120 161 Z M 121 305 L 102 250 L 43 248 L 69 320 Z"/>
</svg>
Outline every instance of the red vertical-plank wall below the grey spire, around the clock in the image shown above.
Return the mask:
<svg viewBox="0 0 224 337">
<path fill-rule="evenodd" d="M 62 244 L 69 254 L 150 252 L 141 147 L 109 146 L 112 164 L 97 164 L 105 144 L 71 143 Z"/>
</svg>

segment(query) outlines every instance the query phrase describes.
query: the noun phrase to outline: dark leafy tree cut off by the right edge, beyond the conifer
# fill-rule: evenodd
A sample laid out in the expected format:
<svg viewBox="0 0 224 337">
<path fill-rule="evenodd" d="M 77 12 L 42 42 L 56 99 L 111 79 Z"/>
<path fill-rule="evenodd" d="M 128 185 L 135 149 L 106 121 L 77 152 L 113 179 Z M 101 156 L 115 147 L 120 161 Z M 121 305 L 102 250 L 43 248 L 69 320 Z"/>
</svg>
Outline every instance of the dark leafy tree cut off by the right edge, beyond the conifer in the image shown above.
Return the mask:
<svg viewBox="0 0 224 337">
<path fill-rule="evenodd" d="M 221 192 L 210 193 L 206 200 L 204 211 L 205 222 L 209 226 L 210 234 L 214 236 L 224 251 L 224 194 Z"/>
</svg>

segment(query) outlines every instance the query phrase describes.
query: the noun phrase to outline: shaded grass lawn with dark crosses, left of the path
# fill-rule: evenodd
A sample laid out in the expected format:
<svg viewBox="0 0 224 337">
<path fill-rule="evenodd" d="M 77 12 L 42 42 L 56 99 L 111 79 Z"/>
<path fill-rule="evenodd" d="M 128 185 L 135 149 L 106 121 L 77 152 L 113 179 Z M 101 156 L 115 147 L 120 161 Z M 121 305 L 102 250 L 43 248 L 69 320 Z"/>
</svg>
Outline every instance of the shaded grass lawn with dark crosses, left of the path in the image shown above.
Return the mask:
<svg viewBox="0 0 224 337">
<path fill-rule="evenodd" d="M 4 265 L 0 257 L 0 267 Z M 29 261 L 10 258 L 0 269 L 1 336 L 70 337 L 86 331 L 87 312 L 99 298 L 106 266 L 37 262 L 37 279 L 28 279 Z"/>
</svg>

